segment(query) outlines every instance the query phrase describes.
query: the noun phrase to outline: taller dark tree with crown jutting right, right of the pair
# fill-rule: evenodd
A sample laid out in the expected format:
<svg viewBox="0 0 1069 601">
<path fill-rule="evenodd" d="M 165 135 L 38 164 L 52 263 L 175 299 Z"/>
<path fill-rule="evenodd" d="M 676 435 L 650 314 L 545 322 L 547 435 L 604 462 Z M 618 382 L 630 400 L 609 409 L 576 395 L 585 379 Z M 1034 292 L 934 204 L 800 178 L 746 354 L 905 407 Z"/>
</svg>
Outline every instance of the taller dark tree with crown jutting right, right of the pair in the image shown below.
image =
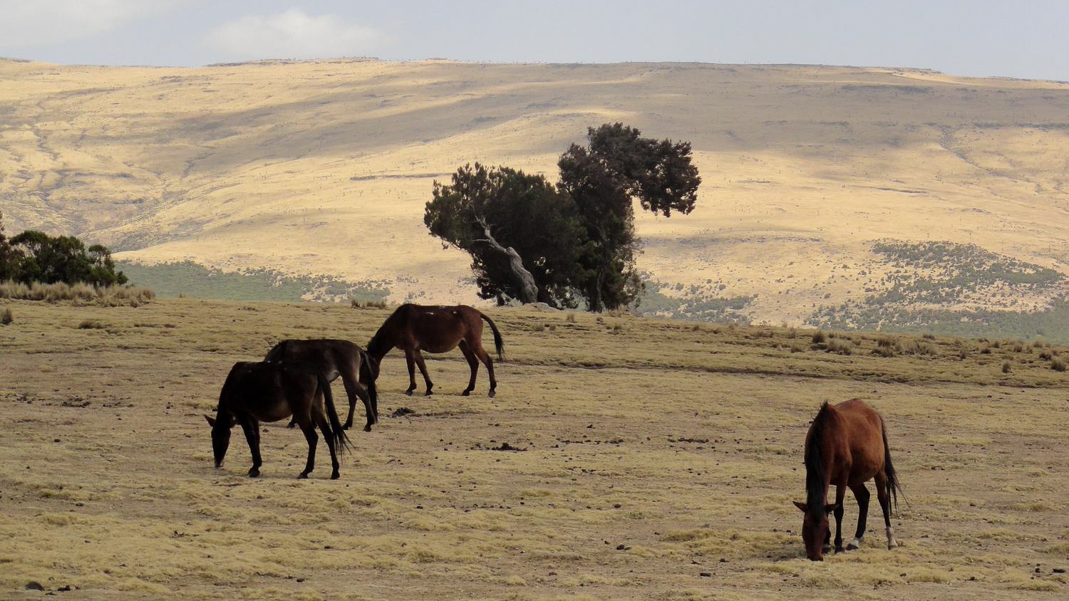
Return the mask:
<svg viewBox="0 0 1069 601">
<path fill-rule="evenodd" d="M 690 142 L 641 138 L 620 123 L 589 128 L 587 139 L 589 146 L 572 144 L 561 155 L 558 188 L 575 201 L 592 243 L 583 257 L 588 276 L 576 285 L 590 310 L 602 311 L 631 303 L 642 289 L 632 200 L 654 215 L 686 215 L 701 177 Z"/>
</svg>

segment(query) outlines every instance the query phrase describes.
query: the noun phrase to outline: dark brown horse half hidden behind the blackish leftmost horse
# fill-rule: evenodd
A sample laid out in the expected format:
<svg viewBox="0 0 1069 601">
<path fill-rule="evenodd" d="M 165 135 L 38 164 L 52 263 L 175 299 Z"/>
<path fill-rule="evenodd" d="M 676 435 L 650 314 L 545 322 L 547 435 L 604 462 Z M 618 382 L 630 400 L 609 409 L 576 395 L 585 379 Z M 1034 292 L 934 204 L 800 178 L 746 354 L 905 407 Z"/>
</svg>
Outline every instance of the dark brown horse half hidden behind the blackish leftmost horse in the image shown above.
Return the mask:
<svg viewBox="0 0 1069 601">
<path fill-rule="evenodd" d="M 363 401 L 363 412 L 368 420 L 363 431 L 370 432 L 371 425 L 378 423 L 378 392 L 375 390 L 378 362 L 372 361 L 368 351 L 357 345 L 348 341 L 332 339 L 282 341 L 267 351 L 264 361 L 299 363 L 322 373 L 328 382 L 341 376 L 348 396 L 348 417 L 342 428 L 347 430 L 353 426 L 356 397 Z M 295 424 L 296 417 L 290 422 L 289 427 L 292 428 Z"/>
</svg>

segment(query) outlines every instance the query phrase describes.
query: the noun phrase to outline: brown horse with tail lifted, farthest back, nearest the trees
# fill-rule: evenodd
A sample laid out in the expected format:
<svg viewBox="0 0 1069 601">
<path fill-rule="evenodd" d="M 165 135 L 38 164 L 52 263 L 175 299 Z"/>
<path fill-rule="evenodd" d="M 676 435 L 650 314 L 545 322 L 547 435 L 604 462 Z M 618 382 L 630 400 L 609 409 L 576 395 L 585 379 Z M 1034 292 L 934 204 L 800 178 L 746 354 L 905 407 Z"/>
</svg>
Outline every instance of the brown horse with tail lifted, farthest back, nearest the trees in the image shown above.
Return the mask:
<svg viewBox="0 0 1069 601">
<path fill-rule="evenodd" d="M 408 390 L 405 394 L 410 395 L 416 390 L 416 369 L 414 365 L 419 365 L 419 371 L 427 382 L 427 395 L 431 395 L 430 376 L 427 375 L 427 364 L 423 363 L 423 355 L 420 351 L 448 352 L 458 346 L 467 359 L 471 368 L 471 379 L 468 388 L 461 394 L 467 396 L 475 390 L 475 376 L 479 370 L 479 361 L 486 364 L 486 371 L 490 373 L 490 396 L 494 396 L 497 390 L 497 380 L 494 378 L 494 361 L 482 348 L 482 321 L 490 323 L 490 329 L 494 331 L 494 346 L 497 348 L 497 359 L 501 360 L 505 352 L 505 343 L 501 342 L 501 333 L 490 317 L 483 315 L 477 309 L 459 304 L 456 306 L 424 306 L 419 304 L 402 304 L 386 318 L 383 326 L 375 332 L 374 337 L 368 343 L 368 353 L 375 361 L 382 361 L 383 357 L 391 348 L 398 347 L 404 351 L 404 358 L 408 362 Z"/>
</svg>

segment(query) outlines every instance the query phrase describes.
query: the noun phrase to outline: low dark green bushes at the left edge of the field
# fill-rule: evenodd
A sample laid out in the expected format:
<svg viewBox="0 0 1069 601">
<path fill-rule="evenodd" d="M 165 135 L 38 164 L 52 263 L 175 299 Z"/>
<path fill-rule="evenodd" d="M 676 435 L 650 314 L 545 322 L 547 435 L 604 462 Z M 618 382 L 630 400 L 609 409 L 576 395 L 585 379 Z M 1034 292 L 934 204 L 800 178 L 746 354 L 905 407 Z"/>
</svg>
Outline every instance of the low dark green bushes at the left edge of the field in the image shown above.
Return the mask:
<svg viewBox="0 0 1069 601">
<path fill-rule="evenodd" d="M 94 286 L 125 284 L 126 275 L 115 271 L 111 251 L 100 244 L 86 249 L 74 236 L 49 236 L 29 230 L 7 240 L 0 223 L 0 281 L 75 284 Z"/>
</svg>

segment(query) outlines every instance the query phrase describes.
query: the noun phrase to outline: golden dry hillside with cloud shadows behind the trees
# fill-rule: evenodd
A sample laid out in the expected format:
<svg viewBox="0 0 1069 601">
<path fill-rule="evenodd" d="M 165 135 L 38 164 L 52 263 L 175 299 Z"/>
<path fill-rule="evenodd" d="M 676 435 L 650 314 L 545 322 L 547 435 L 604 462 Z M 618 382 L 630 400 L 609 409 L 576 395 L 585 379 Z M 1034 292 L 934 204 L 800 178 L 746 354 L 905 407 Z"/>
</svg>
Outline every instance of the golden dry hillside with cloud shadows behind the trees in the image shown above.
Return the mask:
<svg viewBox="0 0 1069 601">
<path fill-rule="evenodd" d="M 1067 115 L 1067 82 L 909 68 L 4 60 L 0 209 L 127 263 L 471 302 L 422 225 L 432 181 L 553 178 L 622 121 L 691 140 L 703 177 L 691 216 L 639 219 L 647 310 L 1069 339 Z"/>
</svg>

